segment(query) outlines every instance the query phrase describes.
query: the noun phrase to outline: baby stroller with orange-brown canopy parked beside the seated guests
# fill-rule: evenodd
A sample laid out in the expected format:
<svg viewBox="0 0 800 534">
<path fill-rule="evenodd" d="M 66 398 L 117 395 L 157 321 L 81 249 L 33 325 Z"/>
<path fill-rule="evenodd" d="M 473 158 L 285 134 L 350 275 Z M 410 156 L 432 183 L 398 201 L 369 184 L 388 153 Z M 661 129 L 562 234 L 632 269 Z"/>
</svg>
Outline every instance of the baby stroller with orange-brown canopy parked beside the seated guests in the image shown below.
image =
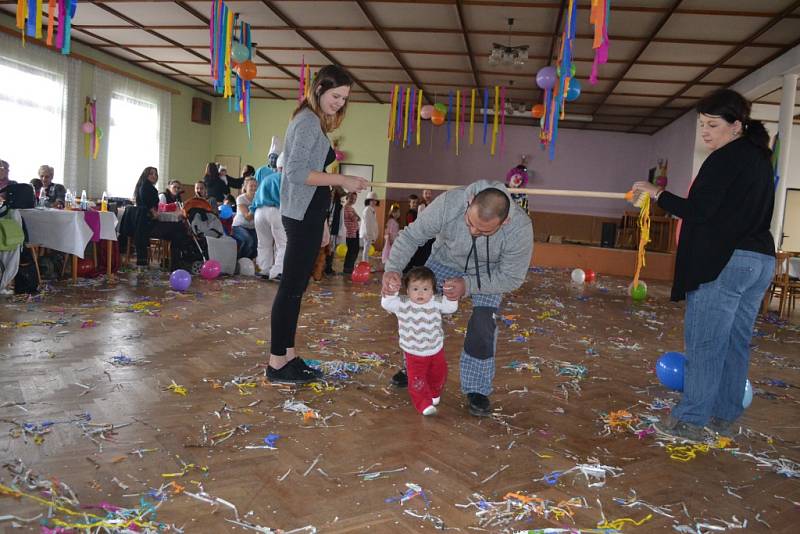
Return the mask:
<svg viewBox="0 0 800 534">
<path fill-rule="evenodd" d="M 214 213 L 211 204 L 202 198 L 191 198 L 183 203 L 183 214 L 196 247 L 193 252 L 200 254 L 200 258 L 192 262 L 192 274 L 198 274 L 203 262 L 208 259 L 219 261 L 223 273 L 234 274 L 236 241 L 225 235 L 222 221 Z"/>
</svg>

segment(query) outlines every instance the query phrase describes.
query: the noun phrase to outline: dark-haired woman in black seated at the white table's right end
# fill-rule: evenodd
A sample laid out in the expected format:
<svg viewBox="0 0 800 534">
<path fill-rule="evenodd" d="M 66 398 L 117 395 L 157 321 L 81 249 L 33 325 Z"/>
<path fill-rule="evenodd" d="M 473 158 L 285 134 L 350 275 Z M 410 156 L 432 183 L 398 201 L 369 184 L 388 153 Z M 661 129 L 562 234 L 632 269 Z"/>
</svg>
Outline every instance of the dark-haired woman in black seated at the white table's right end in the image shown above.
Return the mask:
<svg viewBox="0 0 800 534">
<path fill-rule="evenodd" d="M 185 250 L 189 244 L 183 224 L 176 222 L 162 222 L 158 220 L 158 169 L 145 167 L 134 189 L 136 201 L 136 221 L 134 230 L 134 243 L 136 245 L 136 265 L 140 270 L 147 266 L 147 251 L 150 238 L 164 239 L 172 243 L 170 247 L 171 265 L 177 266 L 180 251 Z"/>
</svg>

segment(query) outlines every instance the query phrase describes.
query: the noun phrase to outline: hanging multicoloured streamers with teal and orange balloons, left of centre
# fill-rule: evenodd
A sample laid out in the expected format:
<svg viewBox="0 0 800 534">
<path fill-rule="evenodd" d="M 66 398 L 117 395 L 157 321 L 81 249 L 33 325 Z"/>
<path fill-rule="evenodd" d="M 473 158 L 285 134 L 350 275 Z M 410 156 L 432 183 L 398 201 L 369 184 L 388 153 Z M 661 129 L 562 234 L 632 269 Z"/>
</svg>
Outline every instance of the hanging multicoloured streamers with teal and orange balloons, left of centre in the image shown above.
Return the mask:
<svg viewBox="0 0 800 534">
<path fill-rule="evenodd" d="M 228 111 L 239 115 L 252 139 L 250 98 L 257 69 L 253 63 L 250 25 L 239 20 L 222 0 L 213 0 L 209 17 L 209 52 L 214 90 L 228 99 Z"/>
</svg>

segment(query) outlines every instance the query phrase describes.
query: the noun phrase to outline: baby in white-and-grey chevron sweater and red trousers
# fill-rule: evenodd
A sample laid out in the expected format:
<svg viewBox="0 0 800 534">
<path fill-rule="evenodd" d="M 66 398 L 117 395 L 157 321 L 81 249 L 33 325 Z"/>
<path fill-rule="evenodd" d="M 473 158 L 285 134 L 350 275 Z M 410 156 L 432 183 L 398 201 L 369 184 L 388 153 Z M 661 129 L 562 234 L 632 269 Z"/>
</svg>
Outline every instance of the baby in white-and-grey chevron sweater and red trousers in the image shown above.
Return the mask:
<svg viewBox="0 0 800 534">
<path fill-rule="evenodd" d="M 447 379 L 442 314 L 455 313 L 458 301 L 434 296 L 436 275 L 427 267 L 411 269 L 403 288 L 406 296 L 383 297 L 381 306 L 397 316 L 411 402 L 421 414 L 435 415 Z"/>
</svg>

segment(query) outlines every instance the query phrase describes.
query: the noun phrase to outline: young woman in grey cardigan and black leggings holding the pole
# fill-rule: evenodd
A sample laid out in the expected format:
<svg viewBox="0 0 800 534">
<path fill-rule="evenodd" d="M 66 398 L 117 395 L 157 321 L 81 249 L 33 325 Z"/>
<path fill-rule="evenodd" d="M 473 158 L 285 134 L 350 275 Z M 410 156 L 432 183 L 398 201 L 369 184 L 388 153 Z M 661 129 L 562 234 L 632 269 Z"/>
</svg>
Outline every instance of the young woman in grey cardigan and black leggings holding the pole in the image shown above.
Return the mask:
<svg viewBox="0 0 800 534">
<path fill-rule="evenodd" d="M 281 181 L 281 220 L 286 230 L 286 254 L 278 293 L 272 303 L 272 342 L 267 367 L 271 382 L 303 384 L 318 378 L 294 350 L 300 302 L 308 286 L 322 241 L 331 202 L 331 186 L 361 191 L 369 183 L 357 176 L 327 174 L 334 152 L 327 137 L 341 125 L 353 84 L 336 65 L 320 69 L 310 96 L 298 106 L 286 129 Z"/>
</svg>

